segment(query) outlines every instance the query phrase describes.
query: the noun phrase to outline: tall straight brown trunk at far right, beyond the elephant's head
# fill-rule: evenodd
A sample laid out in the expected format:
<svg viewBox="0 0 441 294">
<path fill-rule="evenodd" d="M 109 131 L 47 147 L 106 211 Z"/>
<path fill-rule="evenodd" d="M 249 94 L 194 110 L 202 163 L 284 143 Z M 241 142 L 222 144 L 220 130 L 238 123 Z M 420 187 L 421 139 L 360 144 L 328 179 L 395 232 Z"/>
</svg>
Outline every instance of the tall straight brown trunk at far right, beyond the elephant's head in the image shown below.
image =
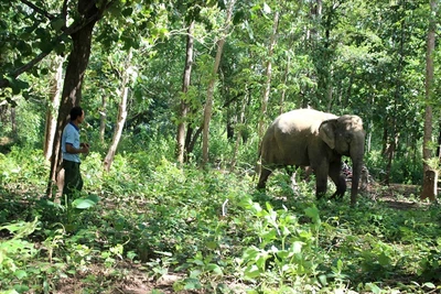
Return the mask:
<svg viewBox="0 0 441 294">
<path fill-rule="evenodd" d="M 430 20 L 429 20 L 429 32 L 427 37 L 427 52 L 426 52 L 426 115 L 424 115 L 424 135 L 422 143 L 422 162 L 423 162 L 423 183 L 420 198 L 429 198 L 431 202 L 435 202 L 437 189 L 433 185 L 437 181 L 432 181 L 427 174 L 430 174 L 430 166 L 427 161 L 432 156 L 432 152 L 429 148 L 432 138 L 432 85 L 433 85 L 433 52 L 435 43 L 435 29 L 437 29 L 437 0 L 430 1 Z"/>
</svg>

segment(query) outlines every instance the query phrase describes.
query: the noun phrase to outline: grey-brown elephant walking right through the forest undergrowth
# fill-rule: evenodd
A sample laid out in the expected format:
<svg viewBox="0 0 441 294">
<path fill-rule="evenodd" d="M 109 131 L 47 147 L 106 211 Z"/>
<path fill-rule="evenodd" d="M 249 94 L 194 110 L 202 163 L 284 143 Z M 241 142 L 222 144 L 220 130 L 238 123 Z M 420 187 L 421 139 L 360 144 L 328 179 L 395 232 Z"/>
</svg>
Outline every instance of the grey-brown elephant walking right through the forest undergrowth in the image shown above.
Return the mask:
<svg viewBox="0 0 441 294">
<path fill-rule="evenodd" d="M 332 198 L 342 198 L 346 182 L 342 174 L 342 156 L 353 163 L 351 205 L 357 202 L 363 167 L 365 131 L 357 116 L 341 116 L 313 109 L 297 109 L 282 113 L 268 128 L 260 148 L 261 171 L 258 189 L 265 189 L 273 168 L 310 166 L 315 174 L 315 195 L 326 193 L 327 176 L 336 190 Z"/>
</svg>

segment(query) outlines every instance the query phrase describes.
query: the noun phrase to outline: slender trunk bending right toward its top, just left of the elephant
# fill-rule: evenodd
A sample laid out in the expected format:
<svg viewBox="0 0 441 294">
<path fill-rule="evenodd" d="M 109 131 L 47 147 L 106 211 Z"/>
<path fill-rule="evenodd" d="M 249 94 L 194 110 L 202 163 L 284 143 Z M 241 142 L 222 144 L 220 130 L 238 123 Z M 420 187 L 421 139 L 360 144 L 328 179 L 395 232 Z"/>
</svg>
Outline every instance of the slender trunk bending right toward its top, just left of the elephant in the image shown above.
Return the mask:
<svg viewBox="0 0 441 294">
<path fill-rule="evenodd" d="M 214 86 L 216 81 L 217 70 L 220 64 L 222 52 L 224 50 L 225 40 L 227 34 L 229 33 L 232 15 L 233 15 L 233 8 L 236 0 L 229 0 L 227 15 L 225 20 L 225 28 L 222 32 L 220 39 L 217 41 L 217 52 L 216 57 L 213 66 L 212 76 L 208 83 L 207 89 L 207 100 L 205 104 L 204 109 L 204 131 L 203 131 L 203 140 L 202 140 L 202 155 L 203 155 L 203 165 L 208 163 L 208 133 L 209 133 L 209 122 L 212 120 L 212 112 L 213 112 L 213 96 L 214 96 Z"/>
</svg>

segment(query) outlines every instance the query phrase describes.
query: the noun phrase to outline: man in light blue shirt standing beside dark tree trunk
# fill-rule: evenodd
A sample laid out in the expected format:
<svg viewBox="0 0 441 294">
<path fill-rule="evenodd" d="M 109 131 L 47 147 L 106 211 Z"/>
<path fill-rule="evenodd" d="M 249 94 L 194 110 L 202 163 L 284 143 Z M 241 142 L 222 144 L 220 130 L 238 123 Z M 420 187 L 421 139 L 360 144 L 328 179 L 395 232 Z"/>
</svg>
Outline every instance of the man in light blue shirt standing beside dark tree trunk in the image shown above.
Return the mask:
<svg viewBox="0 0 441 294">
<path fill-rule="evenodd" d="M 80 107 L 71 110 L 71 121 L 66 124 L 62 137 L 62 153 L 64 168 L 64 187 L 62 204 L 67 197 L 72 202 L 75 192 L 83 188 L 83 178 L 79 173 L 79 153 L 88 153 L 89 144 L 79 142 L 79 124 L 84 121 L 84 111 Z"/>
</svg>

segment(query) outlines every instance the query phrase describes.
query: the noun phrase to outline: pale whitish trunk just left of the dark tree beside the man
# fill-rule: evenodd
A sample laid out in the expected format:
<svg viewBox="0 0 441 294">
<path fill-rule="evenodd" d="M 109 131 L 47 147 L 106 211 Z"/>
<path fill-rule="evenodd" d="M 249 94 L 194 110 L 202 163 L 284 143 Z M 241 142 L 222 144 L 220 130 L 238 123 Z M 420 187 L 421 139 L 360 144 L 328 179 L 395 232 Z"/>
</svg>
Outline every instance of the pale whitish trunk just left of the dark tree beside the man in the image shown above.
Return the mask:
<svg viewBox="0 0 441 294">
<path fill-rule="evenodd" d="M 52 146 L 54 142 L 54 135 L 56 130 L 56 117 L 55 113 L 60 107 L 61 89 L 63 87 L 63 62 L 64 58 L 55 56 L 52 59 L 52 68 L 55 69 L 55 74 L 50 85 L 50 102 L 46 110 L 46 126 L 44 130 L 44 144 L 43 154 L 44 159 L 50 160 L 52 156 Z"/>
</svg>

